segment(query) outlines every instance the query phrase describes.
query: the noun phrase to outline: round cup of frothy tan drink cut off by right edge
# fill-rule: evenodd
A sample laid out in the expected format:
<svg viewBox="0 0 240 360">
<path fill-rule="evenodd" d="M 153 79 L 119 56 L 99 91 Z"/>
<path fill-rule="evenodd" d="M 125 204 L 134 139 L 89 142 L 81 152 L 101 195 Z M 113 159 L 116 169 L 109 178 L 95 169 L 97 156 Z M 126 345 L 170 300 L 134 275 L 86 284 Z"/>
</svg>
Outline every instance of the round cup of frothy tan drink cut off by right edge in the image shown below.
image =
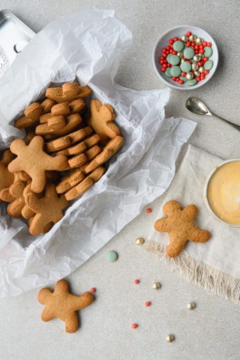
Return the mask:
<svg viewBox="0 0 240 360">
<path fill-rule="evenodd" d="M 204 199 L 217 220 L 240 227 L 240 159 L 223 161 L 212 170 L 204 188 Z"/>
</svg>

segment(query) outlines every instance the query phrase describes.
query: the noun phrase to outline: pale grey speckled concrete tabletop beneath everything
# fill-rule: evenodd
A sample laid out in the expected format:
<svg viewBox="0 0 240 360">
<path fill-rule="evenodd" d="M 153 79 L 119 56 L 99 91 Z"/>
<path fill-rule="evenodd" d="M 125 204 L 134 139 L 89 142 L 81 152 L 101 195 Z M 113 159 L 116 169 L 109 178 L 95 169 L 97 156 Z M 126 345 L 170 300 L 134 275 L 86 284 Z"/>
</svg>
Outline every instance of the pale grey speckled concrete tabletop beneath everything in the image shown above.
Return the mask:
<svg viewBox="0 0 240 360">
<path fill-rule="evenodd" d="M 133 47 L 122 61 L 116 81 L 133 89 L 164 87 L 154 73 L 151 52 L 160 34 L 169 27 L 193 24 L 204 27 L 219 46 L 219 67 L 208 85 L 195 91 L 173 91 L 166 116 L 185 116 L 199 124 L 190 143 L 226 157 L 239 156 L 239 133 L 219 120 L 188 113 L 188 95 L 197 95 L 220 116 L 239 119 L 239 1 L 223 0 L 0 0 L 38 32 L 65 12 L 91 5 L 116 10 L 116 16 L 133 32 Z M 177 164 L 184 156 L 186 146 Z M 43 323 L 37 290 L 0 301 L 0 357 L 3 360 L 35 359 L 180 359 L 226 360 L 240 358 L 240 308 L 179 278 L 164 262 L 134 245 L 153 226 L 161 199 L 151 204 L 122 229 L 98 254 L 69 275 L 76 293 L 96 286 L 96 302 L 80 312 L 81 327 L 69 335 L 59 320 Z M 66 239 L 67 240 L 67 239 Z M 236 239 L 236 241 L 239 239 Z M 109 263 L 109 249 L 118 251 Z M 227 255 L 226 255 L 227 256 Z M 140 284 L 133 284 L 135 278 Z M 162 283 L 160 291 L 152 283 Z M 144 302 L 150 300 L 149 308 Z M 195 311 L 187 311 L 195 301 Z M 131 324 L 138 322 L 133 330 Z M 166 343 L 168 333 L 175 341 Z"/>
</svg>

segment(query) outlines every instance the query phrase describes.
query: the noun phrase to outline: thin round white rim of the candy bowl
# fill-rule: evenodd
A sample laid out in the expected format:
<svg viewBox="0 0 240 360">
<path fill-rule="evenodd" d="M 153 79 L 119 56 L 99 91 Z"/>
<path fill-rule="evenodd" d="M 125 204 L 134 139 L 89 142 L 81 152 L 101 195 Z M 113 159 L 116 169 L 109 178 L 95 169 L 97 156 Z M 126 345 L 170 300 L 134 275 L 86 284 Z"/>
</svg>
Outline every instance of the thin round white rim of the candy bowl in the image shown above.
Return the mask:
<svg viewBox="0 0 240 360">
<path fill-rule="evenodd" d="M 171 32 L 172 30 L 179 30 L 179 29 L 181 29 L 181 27 L 195 27 L 195 29 L 203 30 L 204 32 L 206 32 L 206 34 L 208 34 L 208 32 L 207 32 L 205 29 L 203 29 L 202 27 L 199 27 L 199 26 L 195 26 L 195 25 L 189 25 L 189 24 L 188 24 L 188 25 L 178 25 L 178 26 L 175 26 L 175 27 L 171 27 L 170 29 L 166 30 L 166 32 L 164 32 L 164 33 L 157 39 L 157 41 L 156 41 L 156 43 L 155 43 L 155 45 L 154 45 L 154 48 L 153 48 L 152 62 L 153 62 L 153 67 L 154 67 L 154 69 L 155 69 L 155 72 L 156 72 L 157 76 L 158 76 L 163 82 L 165 82 L 165 84 L 168 85 L 168 87 L 173 87 L 173 89 L 177 89 L 177 90 L 186 90 L 186 91 L 188 91 L 188 90 L 197 89 L 198 87 L 202 87 L 203 85 L 205 85 L 205 84 L 210 80 L 210 78 L 212 78 L 212 76 L 215 74 L 215 71 L 216 71 L 216 69 L 217 69 L 217 65 L 218 65 L 218 62 L 219 62 L 219 52 L 218 52 L 218 49 L 217 49 L 217 43 L 216 43 L 216 41 L 214 40 L 214 38 L 212 38 L 212 36 L 211 36 L 210 34 L 208 34 L 211 42 L 215 44 L 216 49 L 217 49 L 217 51 L 215 52 L 215 56 L 216 56 L 216 59 L 217 59 L 217 61 L 215 60 L 215 68 L 214 68 L 213 70 L 211 69 L 211 71 L 210 71 L 210 73 L 209 73 L 209 76 L 208 76 L 207 78 L 205 78 L 204 81 L 197 82 L 196 85 L 193 85 L 193 86 L 191 86 L 191 87 L 177 87 L 177 86 L 175 86 L 174 84 L 171 84 L 170 82 L 166 81 L 166 80 L 164 79 L 164 77 L 162 76 L 162 74 L 160 74 L 160 71 L 157 69 L 157 67 L 156 67 L 156 65 L 155 65 L 155 52 L 156 52 L 156 48 L 157 48 L 157 45 L 158 45 L 158 43 L 160 42 L 160 40 L 161 40 L 164 36 L 166 36 L 166 34 L 168 34 L 168 32 Z"/>
</svg>

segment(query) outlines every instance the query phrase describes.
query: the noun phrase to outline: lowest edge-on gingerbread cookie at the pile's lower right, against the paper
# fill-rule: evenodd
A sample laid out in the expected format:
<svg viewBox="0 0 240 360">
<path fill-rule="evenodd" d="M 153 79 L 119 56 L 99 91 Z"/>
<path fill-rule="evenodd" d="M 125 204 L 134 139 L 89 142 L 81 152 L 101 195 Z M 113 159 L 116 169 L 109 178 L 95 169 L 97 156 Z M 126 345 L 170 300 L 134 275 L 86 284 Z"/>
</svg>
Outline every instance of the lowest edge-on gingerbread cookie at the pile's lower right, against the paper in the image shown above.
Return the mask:
<svg viewBox="0 0 240 360">
<path fill-rule="evenodd" d="M 96 183 L 102 175 L 105 173 L 105 168 L 99 166 L 96 170 L 91 172 L 83 181 L 74 186 L 71 190 L 65 193 L 65 198 L 67 200 L 74 200 L 76 197 L 84 194 L 89 188 L 91 188 L 94 183 Z"/>
</svg>

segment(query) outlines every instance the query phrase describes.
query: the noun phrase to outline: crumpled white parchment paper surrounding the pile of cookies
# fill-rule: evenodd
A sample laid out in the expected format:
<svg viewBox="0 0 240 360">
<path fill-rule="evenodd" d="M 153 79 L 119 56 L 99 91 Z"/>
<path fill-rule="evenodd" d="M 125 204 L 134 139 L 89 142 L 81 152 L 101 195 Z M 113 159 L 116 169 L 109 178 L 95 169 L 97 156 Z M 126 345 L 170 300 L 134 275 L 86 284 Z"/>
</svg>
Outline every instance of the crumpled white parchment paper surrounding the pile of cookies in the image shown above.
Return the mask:
<svg viewBox="0 0 240 360">
<path fill-rule="evenodd" d="M 146 203 L 160 196 L 175 174 L 175 160 L 195 123 L 164 120 L 169 89 L 134 91 L 114 83 L 131 32 L 111 10 L 85 10 L 47 25 L 0 80 L 0 146 L 23 136 L 11 126 L 50 82 L 89 83 L 94 98 L 110 103 L 124 146 L 88 192 L 72 203 L 48 234 L 33 238 L 21 219 L 0 216 L 0 297 L 18 295 L 71 273 Z"/>
</svg>

